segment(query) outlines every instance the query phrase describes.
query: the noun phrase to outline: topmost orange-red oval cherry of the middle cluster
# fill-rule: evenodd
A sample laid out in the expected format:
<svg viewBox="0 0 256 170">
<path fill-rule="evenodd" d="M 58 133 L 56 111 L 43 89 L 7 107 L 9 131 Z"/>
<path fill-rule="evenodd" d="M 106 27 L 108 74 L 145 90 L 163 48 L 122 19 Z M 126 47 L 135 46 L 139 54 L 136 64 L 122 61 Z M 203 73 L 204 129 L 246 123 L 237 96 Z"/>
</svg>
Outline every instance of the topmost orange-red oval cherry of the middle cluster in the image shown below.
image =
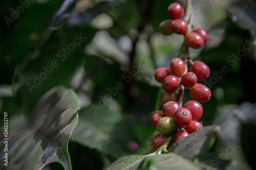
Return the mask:
<svg viewBox="0 0 256 170">
<path fill-rule="evenodd" d="M 185 69 L 186 67 L 184 61 L 179 58 L 174 58 L 170 62 L 170 71 L 172 71 L 172 74 L 178 78 L 184 75 Z"/>
</svg>

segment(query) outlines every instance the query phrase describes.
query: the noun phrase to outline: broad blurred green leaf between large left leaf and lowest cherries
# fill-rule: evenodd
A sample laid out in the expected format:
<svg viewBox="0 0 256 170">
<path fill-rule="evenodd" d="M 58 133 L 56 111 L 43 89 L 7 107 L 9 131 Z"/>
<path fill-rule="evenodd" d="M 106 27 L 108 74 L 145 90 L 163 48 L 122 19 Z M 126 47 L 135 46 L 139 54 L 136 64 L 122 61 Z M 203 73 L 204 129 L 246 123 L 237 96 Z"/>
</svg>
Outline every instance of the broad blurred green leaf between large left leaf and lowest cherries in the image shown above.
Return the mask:
<svg viewBox="0 0 256 170">
<path fill-rule="evenodd" d="M 93 107 L 101 110 L 94 111 Z M 71 140 L 115 158 L 131 154 L 129 142 L 138 141 L 131 123 L 120 112 L 95 104 L 80 110 L 79 124 Z"/>
</svg>

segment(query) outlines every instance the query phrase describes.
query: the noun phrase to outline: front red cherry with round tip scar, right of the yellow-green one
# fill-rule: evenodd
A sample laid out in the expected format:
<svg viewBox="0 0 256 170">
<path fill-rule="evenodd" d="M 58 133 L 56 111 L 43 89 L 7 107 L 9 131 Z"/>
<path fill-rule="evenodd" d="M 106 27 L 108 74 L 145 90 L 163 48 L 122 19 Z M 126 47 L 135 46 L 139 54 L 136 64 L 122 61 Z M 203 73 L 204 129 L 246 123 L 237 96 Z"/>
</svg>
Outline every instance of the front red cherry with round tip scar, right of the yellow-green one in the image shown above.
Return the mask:
<svg viewBox="0 0 256 170">
<path fill-rule="evenodd" d="M 178 109 L 174 114 L 175 124 L 180 128 L 187 127 L 192 120 L 191 112 L 186 108 Z"/>
</svg>

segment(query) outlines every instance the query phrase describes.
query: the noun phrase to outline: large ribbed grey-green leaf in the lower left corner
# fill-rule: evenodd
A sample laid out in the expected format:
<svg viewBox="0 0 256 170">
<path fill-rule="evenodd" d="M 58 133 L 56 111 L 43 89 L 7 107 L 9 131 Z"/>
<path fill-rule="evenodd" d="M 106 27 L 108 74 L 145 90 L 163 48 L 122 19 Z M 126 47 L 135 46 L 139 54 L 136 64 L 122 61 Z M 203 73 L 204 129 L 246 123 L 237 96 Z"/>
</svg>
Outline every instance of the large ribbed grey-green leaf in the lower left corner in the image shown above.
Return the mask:
<svg viewBox="0 0 256 170">
<path fill-rule="evenodd" d="M 42 169 L 59 162 L 71 169 L 70 135 L 78 123 L 77 96 L 71 89 L 55 87 L 39 100 L 28 126 L 10 136 L 7 169 Z M 2 143 L 1 143 L 2 144 Z M 1 145 L 1 158 L 5 154 Z M 1 164 L 1 169 L 4 167 Z"/>
</svg>

